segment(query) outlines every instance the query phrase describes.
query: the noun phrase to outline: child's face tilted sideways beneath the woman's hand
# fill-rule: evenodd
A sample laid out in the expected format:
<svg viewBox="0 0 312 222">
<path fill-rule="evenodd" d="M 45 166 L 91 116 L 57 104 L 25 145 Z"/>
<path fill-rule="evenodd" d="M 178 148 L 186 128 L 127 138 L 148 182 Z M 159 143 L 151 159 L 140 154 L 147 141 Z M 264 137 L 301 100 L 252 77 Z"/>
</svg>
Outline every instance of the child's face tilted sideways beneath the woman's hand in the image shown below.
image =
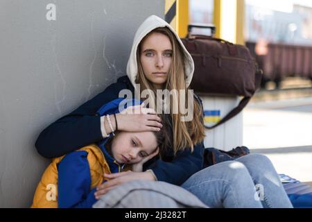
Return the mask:
<svg viewBox="0 0 312 222">
<path fill-rule="evenodd" d="M 116 162 L 135 164 L 142 158 L 161 148 L 164 135 L 162 130 L 145 132 L 117 132 L 112 139 L 110 148 Z"/>
</svg>

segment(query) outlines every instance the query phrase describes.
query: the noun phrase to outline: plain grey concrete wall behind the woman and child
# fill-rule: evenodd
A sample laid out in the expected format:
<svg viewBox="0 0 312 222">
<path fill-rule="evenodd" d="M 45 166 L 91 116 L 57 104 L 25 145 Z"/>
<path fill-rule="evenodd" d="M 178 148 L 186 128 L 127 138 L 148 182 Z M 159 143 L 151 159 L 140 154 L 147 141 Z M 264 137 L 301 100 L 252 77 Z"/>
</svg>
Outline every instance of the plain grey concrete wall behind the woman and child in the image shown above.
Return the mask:
<svg viewBox="0 0 312 222">
<path fill-rule="evenodd" d="M 0 207 L 31 205 L 50 162 L 37 136 L 125 75 L 152 14 L 164 18 L 163 0 L 0 1 Z"/>
</svg>

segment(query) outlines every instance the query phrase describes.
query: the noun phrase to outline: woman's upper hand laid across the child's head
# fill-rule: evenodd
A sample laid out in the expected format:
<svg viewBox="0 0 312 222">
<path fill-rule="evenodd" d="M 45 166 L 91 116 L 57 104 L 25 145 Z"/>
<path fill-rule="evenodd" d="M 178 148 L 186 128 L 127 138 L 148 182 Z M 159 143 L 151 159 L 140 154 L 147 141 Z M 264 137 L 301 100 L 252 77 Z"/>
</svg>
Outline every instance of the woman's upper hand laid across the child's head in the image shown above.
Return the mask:
<svg viewBox="0 0 312 222">
<path fill-rule="evenodd" d="M 152 108 L 144 108 L 144 103 L 126 108 L 116 114 L 118 130 L 128 132 L 159 131 L 162 128 L 160 117 Z"/>
</svg>

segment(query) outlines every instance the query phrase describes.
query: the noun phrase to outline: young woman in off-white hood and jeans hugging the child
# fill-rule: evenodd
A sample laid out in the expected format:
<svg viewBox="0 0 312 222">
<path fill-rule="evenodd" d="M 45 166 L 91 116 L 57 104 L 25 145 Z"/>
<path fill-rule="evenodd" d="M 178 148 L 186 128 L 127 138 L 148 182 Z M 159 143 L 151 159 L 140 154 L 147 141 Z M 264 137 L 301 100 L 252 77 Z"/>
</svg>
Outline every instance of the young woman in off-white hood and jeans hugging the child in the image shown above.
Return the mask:
<svg viewBox="0 0 312 222">
<path fill-rule="evenodd" d="M 127 76 L 43 130 L 35 144 L 37 151 L 44 157 L 58 157 L 113 136 L 115 130 L 141 132 L 165 127 L 168 138 L 161 158 L 146 162 L 144 172 L 125 171 L 107 176 L 110 180 L 98 187 L 96 198 L 131 180 L 159 180 L 191 191 L 210 207 L 291 207 L 274 167 L 263 155 L 246 155 L 237 161 L 202 169 L 205 148 L 202 105 L 195 94 L 188 97 L 187 90 L 193 70 L 193 59 L 173 28 L 155 15 L 148 17 L 135 34 Z M 141 92 L 150 89 L 149 108 L 139 105 L 135 108 L 141 114 L 116 114 L 110 115 L 111 121 L 105 120 L 97 113 L 98 108 L 118 98 L 123 89 L 142 101 L 146 98 Z M 155 101 L 162 101 L 157 98 L 157 89 L 178 92 L 173 93 L 167 107 L 170 114 L 162 114 L 162 119 L 155 115 L 160 104 Z M 182 121 L 183 114 L 174 112 L 174 108 L 184 108 L 189 101 L 193 118 Z M 162 105 L 166 109 L 168 103 Z M 136 148 L 140 142 L 132 146 Z M 263 194 L 260 198 L 256 198 L 255 183 L 260 189 L 264 187 L 259 191 Z"/>
</svg>

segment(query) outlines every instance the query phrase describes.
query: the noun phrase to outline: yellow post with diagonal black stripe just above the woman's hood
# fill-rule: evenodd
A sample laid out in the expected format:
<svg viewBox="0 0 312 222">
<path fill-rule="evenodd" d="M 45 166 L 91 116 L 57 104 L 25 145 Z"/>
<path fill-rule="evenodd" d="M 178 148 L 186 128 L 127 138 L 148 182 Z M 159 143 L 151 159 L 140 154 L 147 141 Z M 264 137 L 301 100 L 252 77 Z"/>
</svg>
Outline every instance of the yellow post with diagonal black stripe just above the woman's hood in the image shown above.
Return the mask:
<svg viewBox="0 0 312 222">
<path fill-rule="evenodd" d="M 189 0 L 166 0 L 165 20 L 170 24 L 180 37 L 187 35 L 189 24 Z"/>
</svg>

